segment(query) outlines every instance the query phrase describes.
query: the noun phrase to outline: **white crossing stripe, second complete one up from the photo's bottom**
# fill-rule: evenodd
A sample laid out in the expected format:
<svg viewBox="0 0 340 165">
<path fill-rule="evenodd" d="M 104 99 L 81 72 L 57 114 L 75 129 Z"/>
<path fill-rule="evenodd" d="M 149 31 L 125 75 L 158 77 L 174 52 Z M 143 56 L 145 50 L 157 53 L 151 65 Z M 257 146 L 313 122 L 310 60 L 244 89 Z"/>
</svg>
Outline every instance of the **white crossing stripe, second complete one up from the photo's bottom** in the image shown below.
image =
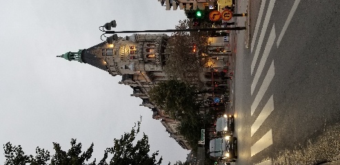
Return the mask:
<svg viewBox="0 0 340 165">
<path fill-rule="evenodd" d="M 274 111 L 274 100 L 271 96 L 267 104 L 263 107 L 261 113 L 259 114 L 259 117 L 257 117 L 254 124 L 252 124 L 251 130 L 250 130 L 251 136 L 254 135 L 254 133 L 256 133 L 257 129 L 260 128 L 262 123 L 268 118 L 268 116 L 270 115 L 270 113 L 272 113 L 272 111 Z"/>
</svg>

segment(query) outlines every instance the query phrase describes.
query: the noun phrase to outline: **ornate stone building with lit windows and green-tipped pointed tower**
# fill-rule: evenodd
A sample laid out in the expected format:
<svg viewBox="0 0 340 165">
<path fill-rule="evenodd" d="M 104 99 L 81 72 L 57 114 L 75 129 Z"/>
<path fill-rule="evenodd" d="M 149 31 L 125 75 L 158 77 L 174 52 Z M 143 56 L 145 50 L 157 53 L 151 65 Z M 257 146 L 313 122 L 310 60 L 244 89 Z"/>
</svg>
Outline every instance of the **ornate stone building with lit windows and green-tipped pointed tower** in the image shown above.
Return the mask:
<svg viewBox="0 0 340 165">
<path fill-rule="evenodd" d="M 131 96 L 141 98 L 141 106 L 152 110 L 152 118 L 161 120 L 166 131 L 170 133 L 170 137 L 183 148 L 190 149 L 183 136 L 177 133 L 178 123 L 149 100 L 150 89 L 157 83 L 168 80 L 163 71 L 170 56 L 166 51 L 168 39 L 169 36 L 166 34 L 132 34 L 132 36 L 119 37 L 113 44 L 103 42 L 85 50 L 67 52 L 57 57 L 87 63 L 103 69 L 112 76 L 122 76 L 119 84 L 129 85 L 133 89 Z M 217 39 L 211 39 L 210 42 L 212 44 L 209 50 L 215 65 L 201 75 L 203 81 L 206 81 L 207 89 L 213 88 L 219 78 L 219 74 L 212 74 L 212 69 L 215 72 L 226 69 L 224 58 L 227 57 L 224 56 L 226 50 L 223 41 L 221 43 Z M 215 82 L 212 81 L 212 76 L 216 79 Z"/>
</svg>

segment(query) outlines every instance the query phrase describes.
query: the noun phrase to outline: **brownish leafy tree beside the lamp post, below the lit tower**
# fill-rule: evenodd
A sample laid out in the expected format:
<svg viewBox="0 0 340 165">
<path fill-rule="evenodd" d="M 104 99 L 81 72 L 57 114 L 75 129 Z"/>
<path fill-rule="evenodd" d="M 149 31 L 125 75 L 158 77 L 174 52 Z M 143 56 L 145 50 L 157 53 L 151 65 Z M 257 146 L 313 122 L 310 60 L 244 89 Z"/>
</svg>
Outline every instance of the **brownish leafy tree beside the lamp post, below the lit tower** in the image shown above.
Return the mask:
<svg viewBox="0 0 340 165">
<path fill-rule="evenodd" d="M 178 30 L 192 28 L 190 20 L 179 21 Z M 199 73 L 210 67 L 207 32 L 174 32 L 168 40 L 166 74 L 190 83 L 199 82 Z"/>
</svg>

